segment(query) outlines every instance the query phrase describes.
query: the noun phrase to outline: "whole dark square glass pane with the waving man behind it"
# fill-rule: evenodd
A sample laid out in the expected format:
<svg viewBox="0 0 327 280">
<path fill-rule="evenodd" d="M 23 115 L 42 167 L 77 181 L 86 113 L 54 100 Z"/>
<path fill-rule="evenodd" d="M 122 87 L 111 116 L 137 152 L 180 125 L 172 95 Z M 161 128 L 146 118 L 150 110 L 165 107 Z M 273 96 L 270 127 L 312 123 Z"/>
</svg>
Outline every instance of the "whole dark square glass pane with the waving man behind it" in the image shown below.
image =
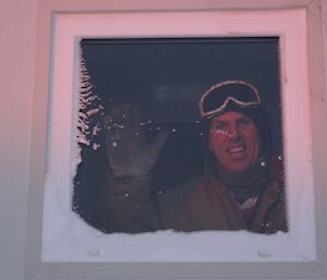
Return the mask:
<svg viewBox="0 0 327 280">
<path fill-rule="evenodd" d="M 73 210 L 85 222 L 288 231 L 278 38 L 84 39 L 80 82 Z M 199 102 L 220 84 L 234 99 Z"/>
</svg>

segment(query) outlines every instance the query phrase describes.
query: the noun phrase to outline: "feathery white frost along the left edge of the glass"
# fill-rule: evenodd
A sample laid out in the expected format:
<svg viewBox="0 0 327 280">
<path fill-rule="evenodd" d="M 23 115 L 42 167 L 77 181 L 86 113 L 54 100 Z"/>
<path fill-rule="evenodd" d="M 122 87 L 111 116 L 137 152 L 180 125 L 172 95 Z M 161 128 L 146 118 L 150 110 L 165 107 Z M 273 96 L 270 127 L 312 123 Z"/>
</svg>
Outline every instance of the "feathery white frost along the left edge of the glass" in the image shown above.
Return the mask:
<svg viewBox="0 0 327 280">
<path fill-rule="evenodd" d="M 104 106 L 100 96 L 97 94 L 96 86 L 88 73 L 83 54 L 83 45 L 80 52 L 80 90 L 77 98 L 77 118 L 76 118 L 76 141 L 77 141 L 77 165 L 76 175 L 74 178 L 73 210 L 78 212 L 87 222 L 92 221 L 89 206 L 94 203 L 95 195 L 90 187 L 90 180 L 96 179 L 94 169 L 87 171 L 89 161 L 98 162 L 97 154 L 101 147 L 100 131 L 101 118 L 104 115 Z M 85 160 L 87 158 L 87 160 Z M 89 175 L 88 175 L 89 174 Z M 87 181 L 85 181 L 87 180 Z M 81 185 L 81 181 L 83 184 Z M 95 181 L 95 183 L 97 183 Z M 87 187 L 87 190 L 86 190 Z M 90 199 L 86 199 L 89 196 Z M 86 199 L 86 200 L 85 200 Z"/>
</svg>

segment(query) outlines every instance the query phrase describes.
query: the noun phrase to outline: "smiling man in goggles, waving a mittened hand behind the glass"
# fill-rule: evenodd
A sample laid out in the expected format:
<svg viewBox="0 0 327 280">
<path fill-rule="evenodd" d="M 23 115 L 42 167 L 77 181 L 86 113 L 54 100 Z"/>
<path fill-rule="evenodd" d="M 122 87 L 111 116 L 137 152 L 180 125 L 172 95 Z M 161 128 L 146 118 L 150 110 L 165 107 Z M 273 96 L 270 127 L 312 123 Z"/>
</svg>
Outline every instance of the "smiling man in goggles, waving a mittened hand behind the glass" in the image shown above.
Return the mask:
<svg viewBox="0 0 327 280">
<path fill-rule="evenodd" d="M 271 155 L 270 119 L 256 87 L 239 80 L 220 82 L 203 94 L 199 111 L 208 146 L 205 173 L 155 200 L 149 199 L 152 169 L 169 135 L 160 132 L 147 144 L 133 121 L 137 118 L 126 118 L 133 114 L 129 107 L 112 111 L 106 133 L 110 169 L 96 207 L 98 228 L 287 231 L 282 167 Z M 119 118 L 123 129 L 113 130 L 110 122 Z"/>
</svg>

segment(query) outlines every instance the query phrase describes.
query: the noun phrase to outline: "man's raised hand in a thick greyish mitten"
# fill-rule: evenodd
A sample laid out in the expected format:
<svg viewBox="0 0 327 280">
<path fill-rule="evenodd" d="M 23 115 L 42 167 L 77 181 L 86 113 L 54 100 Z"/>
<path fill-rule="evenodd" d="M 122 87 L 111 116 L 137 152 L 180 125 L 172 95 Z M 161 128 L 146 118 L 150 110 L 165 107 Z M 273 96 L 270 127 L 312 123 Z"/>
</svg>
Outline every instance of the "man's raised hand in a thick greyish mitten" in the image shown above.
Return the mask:
<svg viewBox="0 0 327 280">
<path fill-rule="evenodd" d="M 169 137 L 158 132 L 150 143 L 140 122 L 138 108 L 122 105 L 104 118 L 107 158 L 114 178 L 148 176 Z"/>
</svg>

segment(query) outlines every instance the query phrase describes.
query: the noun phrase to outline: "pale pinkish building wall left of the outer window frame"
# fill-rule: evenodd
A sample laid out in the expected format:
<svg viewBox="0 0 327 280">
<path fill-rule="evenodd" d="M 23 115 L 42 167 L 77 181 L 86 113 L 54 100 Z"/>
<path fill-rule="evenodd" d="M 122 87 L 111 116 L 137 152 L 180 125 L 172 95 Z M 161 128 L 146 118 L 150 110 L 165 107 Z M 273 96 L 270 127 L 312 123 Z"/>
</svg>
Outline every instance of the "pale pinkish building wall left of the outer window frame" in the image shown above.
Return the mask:
<svg viewBox="0 0 327 280">
<path fill-rule="evenodd" d="M 36 0 L 0 1 L 0 280 L 24 279 L 36 15 Z M 323 15 L 327 57 L 325 0 Z"/>
</svg>

